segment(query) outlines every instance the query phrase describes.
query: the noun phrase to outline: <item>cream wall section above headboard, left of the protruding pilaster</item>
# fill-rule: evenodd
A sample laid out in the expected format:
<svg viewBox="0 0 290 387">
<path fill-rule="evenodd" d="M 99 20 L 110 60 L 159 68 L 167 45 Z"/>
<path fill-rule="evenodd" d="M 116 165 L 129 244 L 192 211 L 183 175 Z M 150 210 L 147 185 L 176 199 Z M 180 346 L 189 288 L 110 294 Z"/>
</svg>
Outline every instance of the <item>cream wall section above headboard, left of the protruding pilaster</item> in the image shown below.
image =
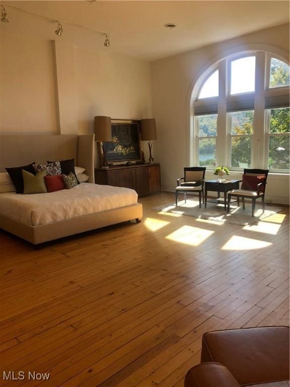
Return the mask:
<svg viewBox="0 0 290 387">
<path fill-rule="evenodd" d="M 57 134 L 52 42 L 1 32 L 1 133 Z"/>
</svg>

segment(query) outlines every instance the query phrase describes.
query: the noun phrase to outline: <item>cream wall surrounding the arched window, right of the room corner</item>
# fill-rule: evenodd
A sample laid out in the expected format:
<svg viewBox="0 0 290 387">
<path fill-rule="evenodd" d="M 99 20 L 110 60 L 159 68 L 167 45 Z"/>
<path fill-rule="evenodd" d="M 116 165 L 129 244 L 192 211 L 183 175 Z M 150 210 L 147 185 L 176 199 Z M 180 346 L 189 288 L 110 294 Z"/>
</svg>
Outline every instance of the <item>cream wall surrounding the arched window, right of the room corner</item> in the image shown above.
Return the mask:
<svg viewBox="0 0 290 387">
<path fill-rule="evenodd" d="M 194 37 L 193 37 L 194 38 Z M 190 95 L 195 82 L 216 60 L 254 46 L 275 47 L 289 52 L 289 25 L 281 25 L 239 38 L 202 47 L 152 63 L 153 115 L 157 120 L 158 140 L 154 144 L 156 161 L 161 163 L 162 188 L 174 190 L 176 178 L 189 165 Z M 241 173 L 232 173 L 240 178 Z M 208 171 L 206 178 L 212 178 Z M 266 199 L 288 203 L 289 175 L 269 175 Z"/>
</svg>

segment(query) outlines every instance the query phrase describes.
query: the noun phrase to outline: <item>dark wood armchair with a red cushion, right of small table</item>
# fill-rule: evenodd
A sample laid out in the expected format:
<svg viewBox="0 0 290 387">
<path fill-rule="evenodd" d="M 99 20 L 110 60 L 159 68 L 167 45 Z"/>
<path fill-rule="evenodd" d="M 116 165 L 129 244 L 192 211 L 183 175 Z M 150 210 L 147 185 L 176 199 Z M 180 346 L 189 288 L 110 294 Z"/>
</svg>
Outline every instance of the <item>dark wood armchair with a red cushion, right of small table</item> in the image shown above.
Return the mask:
<svg viewBox="0 0 290 387">
<path fill-rule="evenodd" d="M 241 189 L 233 189 L 228 192 L 228 212 L 230 212 L 230 204 L 232 196 L 243 202 L 243 210 L 245 210 L 245 198 L 252 200 L 252 216 L 254 216 L 256 199 L 262 199 L 262 209 L 265 211 L 265 191 L 266 182 L 269 170 L 268 169 L 244 169 Z"/>
</svg>

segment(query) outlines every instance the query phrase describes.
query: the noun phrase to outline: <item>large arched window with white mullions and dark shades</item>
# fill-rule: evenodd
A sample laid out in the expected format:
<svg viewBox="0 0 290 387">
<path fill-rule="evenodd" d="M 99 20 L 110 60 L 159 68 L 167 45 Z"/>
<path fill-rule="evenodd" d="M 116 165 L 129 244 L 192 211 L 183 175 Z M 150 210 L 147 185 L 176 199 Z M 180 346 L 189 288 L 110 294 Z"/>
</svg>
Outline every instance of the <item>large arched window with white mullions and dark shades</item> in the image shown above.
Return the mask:
<svg viewBox="0 0 290 387">
<path fill-rule="evenodd" d="M 287 63 L 262 51 L 229 57 L 195 95 L 194 165 L 288 172 Z"/>
</svg>

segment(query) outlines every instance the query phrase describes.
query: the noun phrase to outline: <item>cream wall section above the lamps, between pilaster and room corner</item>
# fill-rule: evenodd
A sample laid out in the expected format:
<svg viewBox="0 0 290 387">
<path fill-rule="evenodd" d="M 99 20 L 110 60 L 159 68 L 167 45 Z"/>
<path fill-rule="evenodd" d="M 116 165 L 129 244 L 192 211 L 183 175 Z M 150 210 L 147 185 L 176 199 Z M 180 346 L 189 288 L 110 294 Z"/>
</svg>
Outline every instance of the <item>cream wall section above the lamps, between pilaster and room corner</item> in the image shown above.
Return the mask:
<svg viewBox="0 0 290 387">
<path fill-rule="evenodd" d="M 148 62 L 75 46 L 78 132 L 93 130 L 92 118 L 151 117 L 151 72 Z"/>
</svg>

